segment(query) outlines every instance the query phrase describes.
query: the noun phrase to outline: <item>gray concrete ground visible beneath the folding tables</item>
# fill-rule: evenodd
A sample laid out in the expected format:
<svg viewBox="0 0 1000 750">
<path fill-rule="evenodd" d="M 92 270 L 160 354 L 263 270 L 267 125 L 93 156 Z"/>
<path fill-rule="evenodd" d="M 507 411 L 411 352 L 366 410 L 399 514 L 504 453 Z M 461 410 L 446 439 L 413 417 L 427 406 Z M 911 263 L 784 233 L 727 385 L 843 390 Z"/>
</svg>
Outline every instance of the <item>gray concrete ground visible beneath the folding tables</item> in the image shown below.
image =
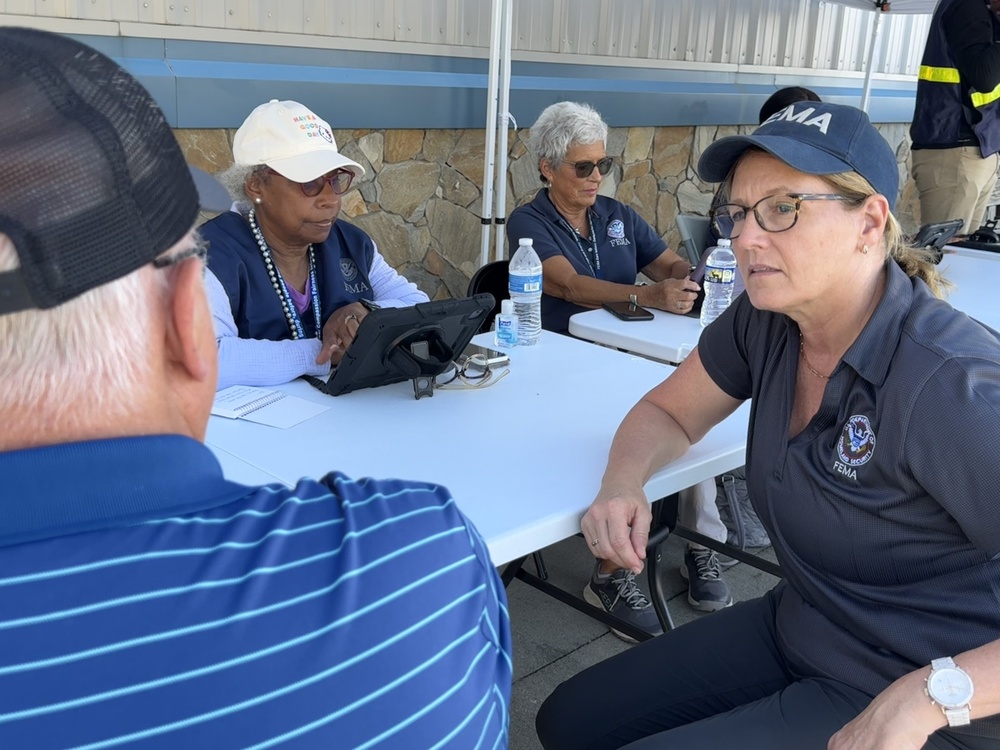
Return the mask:
<svg viewBox="0 0 1000 750">
<path fill-rule="evenodd" d="M 711 616 L 688 604 L 687 587 L 677 572 L 684 544 L 679 537 L 670 537 L 662 549 L 664 588 L 669 592 L 667 607 L 678 626 Z M 762 554 L 774 559 L 770 549 Z M 549 581 L 582 598 L 593 567 L 593 557 L 583 539 L 571 537 L 545 548 L 543 555 Z M 530 560 L 525 565 L 534 572 Z M 772 576 L 742 564 L 724 570 L 723 575 L 736 601 L 760 596 L 777 582 Z M 639 580 L 645 590 L 645 577 L 640 576 Z M 630 646 L 596 620 L 521 581 L 513 581 L 507 594 L 514 638 L 510 750 L 541 750 L 535 736 L 535 713 L 542 701 L 563 680 Z"/>
</svg>

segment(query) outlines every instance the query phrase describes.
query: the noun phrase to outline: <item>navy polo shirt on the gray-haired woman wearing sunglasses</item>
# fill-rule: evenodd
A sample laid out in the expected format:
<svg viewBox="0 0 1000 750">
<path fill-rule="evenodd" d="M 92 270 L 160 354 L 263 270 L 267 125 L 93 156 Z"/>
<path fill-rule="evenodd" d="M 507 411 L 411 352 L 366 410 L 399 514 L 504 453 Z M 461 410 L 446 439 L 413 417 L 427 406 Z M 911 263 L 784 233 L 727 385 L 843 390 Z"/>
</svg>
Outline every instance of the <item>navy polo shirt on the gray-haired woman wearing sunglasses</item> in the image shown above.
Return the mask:
<svg viewBox="0 0 1000 750">
<path fill-rule="evenodd" d="M 643 268 L 659 258 L 667 243 L 645 219 L 624 203 L 603 195 L 588 209 L 591 238 L 578 237 L 573 227 L 549 200 L 548 188 L 514 210 L 507 219 L 507 241 L 511 256 L 522 237 L 534 241 L 535 252 L 544 263 L 563 256 L 578 274 L 616 284 L 634 284 Z M 587 310 L 549 294 L 542 295 L 542 328 L 565 333 L 569 317 Z"/>
</svg>

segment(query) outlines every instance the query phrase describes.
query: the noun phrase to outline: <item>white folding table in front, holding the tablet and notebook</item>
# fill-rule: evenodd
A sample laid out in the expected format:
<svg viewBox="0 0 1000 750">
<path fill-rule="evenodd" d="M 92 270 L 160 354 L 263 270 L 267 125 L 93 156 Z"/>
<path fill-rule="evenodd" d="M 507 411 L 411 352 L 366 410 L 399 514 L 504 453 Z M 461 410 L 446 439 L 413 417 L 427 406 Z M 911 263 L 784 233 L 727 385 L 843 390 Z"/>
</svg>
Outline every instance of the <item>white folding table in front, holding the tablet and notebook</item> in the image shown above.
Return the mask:
<svg viewBox="0 0 1000 750">
<path fill-rule="evenodd" d="M 273 477 L 294 485 L 338 470 L 442 484 L 503 564 L 579 531 L 615 430 L 672 370 L 547 331 L 510 358 L 510 373 L 495 385 L 420 400 L 409 382 L 331 397 L 295 381 L 279 390 L 331 408 L 285 430 L 212 417 L 206 442 L 227 477 L 246 483 Z M 744 405 L 657 472 L 647 496 L 743 464 L 748 416 Z"/>
</svg>

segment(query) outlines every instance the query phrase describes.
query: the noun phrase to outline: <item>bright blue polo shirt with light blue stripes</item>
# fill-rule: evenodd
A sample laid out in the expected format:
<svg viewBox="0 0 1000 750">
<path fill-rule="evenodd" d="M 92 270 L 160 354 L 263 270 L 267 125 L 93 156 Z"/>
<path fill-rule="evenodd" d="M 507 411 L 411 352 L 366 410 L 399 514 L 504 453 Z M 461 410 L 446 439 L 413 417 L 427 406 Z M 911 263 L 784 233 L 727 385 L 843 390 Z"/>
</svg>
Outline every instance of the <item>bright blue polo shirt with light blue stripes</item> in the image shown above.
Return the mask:
<svg viewBox="0 0 1000 750">
<path fill-rule="evenodd" d="M 0 748 L 503 748 L 506 596 L 441 487 L 0 453 Z"/>
</svg>

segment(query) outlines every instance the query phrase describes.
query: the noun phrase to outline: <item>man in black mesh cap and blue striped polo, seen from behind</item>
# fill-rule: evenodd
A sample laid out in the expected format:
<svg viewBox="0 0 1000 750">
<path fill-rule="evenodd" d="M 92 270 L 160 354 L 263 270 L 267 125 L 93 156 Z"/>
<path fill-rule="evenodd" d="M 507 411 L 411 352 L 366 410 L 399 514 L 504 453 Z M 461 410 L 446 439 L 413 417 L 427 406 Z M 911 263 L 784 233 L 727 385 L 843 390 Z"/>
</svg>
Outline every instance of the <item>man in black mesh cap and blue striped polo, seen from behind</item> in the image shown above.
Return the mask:
<svg viewBox="0 0 1000 750">
<path fill-rule="evenodd" d="M 503 587 L 446 490 L 245 487 L 202 445 L 195 182 L 118 65 L 0 29 L 0 748 L 506 746 Z"/>
</svg>

